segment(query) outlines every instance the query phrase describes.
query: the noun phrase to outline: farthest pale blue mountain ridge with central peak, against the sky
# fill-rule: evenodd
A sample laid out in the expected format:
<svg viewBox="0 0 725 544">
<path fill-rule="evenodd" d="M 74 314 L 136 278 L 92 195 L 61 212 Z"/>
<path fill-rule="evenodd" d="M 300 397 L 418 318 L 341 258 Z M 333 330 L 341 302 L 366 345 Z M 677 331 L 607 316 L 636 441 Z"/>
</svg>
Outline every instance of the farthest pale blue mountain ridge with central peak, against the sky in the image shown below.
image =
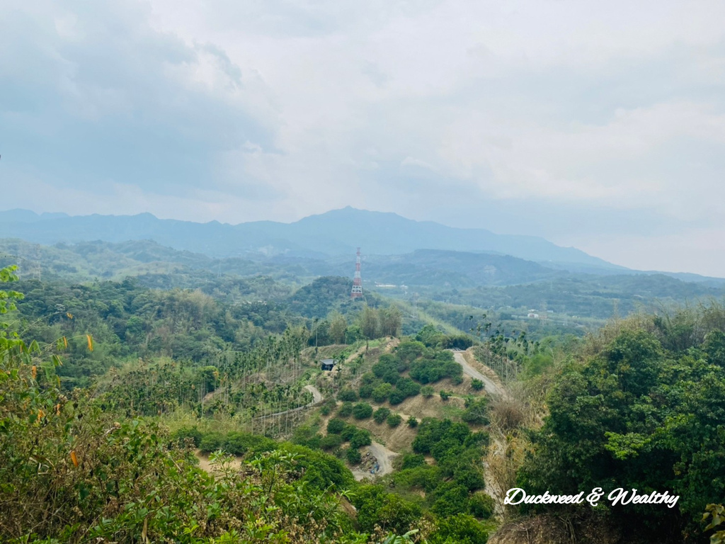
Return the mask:
<svg viewBox="0 0 725 544">
<path fill-rule="evenodd" d="M 394 213 L 346 207 L 311 215 L 294 223 L 254 221 L 229 225 L 193 223 L 138 215 L 43 214 L 28 210 L 0 212 L 0 237 L 40 244 L 150 239 L 176 250 L 210 257 L 265 258 L 276 255 L 326 258 L 351 255 L 399 255 L 415 250 L 489 252 L 539 263 L 626 270 L 573 247 L 560 247 L 537 236 L 494 234 L 482 228 L 454 228 L 413 221 Z"/>
</svg>

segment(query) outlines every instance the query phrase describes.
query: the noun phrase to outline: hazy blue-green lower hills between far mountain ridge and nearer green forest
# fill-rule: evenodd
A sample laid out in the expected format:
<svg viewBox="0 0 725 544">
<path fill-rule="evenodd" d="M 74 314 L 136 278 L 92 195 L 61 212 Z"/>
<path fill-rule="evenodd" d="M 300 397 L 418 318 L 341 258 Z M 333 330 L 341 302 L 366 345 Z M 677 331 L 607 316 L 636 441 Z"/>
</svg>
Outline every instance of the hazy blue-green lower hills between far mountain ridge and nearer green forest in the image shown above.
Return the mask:
<svg viewBox="0 0 725 544">
<path fill-rule="evenodd" d="M 353 257 L 214 259 L 149 240 L 39 246 L 0 239 L 0 265 L 19 263 L 21 279 L 83 283 L 96 279 L 123 281 L 133 276 L 144 287 L 202 289 L 228 302 L 249 300 L 244 297 L 252 294 L 257 296 L 255 300 L 280 300 L 320 276 L 347 278 L 343 281 L 349 283 L 355 268 Z M 725 294 L 722 282 L 717 281 L 682 281 L 645 273 L 568 273 L 508 255 L 444 250 L 368 255 L 363 260 L 363 286 L 366 294 L 377 292 L 401 303 L 411 302 L 413 293 L 418 293 L 421 300 L 449 305 L 436 311 L 426 308 L 455 326 L 460 326 L 460 320 L 450 318 L 452 313 L 465 313 L 467 317 L 473 308 L 493 308 L 525 318 L 529 309 L 545 304 L 552 312 L 552 320 L 562 321 L 566 316 L 608 319 L 642 308 L 695 304 Z M 410 311 L 413 313 L 413 308 Z M 326 313 L 318 315 L 324 316 Z"/>
</svg>

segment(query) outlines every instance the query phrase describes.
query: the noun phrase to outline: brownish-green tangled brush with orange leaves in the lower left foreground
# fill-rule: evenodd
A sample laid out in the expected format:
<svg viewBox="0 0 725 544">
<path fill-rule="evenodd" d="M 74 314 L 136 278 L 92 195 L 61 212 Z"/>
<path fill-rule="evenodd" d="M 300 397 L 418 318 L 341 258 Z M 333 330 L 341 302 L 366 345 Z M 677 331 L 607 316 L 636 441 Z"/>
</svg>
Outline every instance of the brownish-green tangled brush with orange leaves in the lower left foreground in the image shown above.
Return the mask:
<svg viewBox="0 0 725 544">
<path fill-rule="evenodd" d="M 0 280 L 8 279 L 12 271 L 2 271 Z M 17 298 L 0 291 L 0 313 Z M 157 424 L 115 421 L 85 390 L 64 394 L 57 354 L 5 330 L 0 325 L 4 542 L 368 541 L 340 508 L 345 490 L 326 474 L 305 479 L 307 448 L 271 450 L 240 469 L 220 456 L 212 476 L 187 450 L 170 449 Z"/>
</svg>

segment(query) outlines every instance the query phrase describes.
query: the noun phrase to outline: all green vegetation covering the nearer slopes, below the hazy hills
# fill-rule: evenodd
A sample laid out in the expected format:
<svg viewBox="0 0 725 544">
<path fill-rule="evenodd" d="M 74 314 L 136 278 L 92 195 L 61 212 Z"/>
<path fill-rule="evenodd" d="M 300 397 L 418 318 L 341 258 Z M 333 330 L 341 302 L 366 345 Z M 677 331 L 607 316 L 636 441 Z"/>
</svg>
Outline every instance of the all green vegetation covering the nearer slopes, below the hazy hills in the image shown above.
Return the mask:
<svg viewBox="0 0 725 544">
<path fill-rule="evenodd" d="M 220 274 L 194 290 L 161 278 L 25 279 L 0 292 L 4 541 L 372 543 L 412 530 L 407 540 L 473 544 L 508 516 L 551 514 L 571 527 L 606 519 L 632 542 L 697 542 L 706 509 L 717 527 L 717 303 L 580 339 L 436 302 L 426 311 L 441 321 L 376 352 L 422 314 L 351 302 L 349 281 L 334 277 L 295 288 Z M 450 349 L 468 347 L 518 396 L 491 397 L 463 376 Z M 336 371 L 320 371 L 323 357 Z M 325 395 L 319 410 L 310 384 Z M 444 415 L 406 413 L 415 403 Z M 410 437 L 396 470 L 357 482 L 350 469 L 363 470 L 383 432 Z M 489 474 L 484 458 L 505 470 Z M 635 487 L 680 500 L 508 508 L 495 520 L 487 477 L 527 493 Z"/>
</svg>

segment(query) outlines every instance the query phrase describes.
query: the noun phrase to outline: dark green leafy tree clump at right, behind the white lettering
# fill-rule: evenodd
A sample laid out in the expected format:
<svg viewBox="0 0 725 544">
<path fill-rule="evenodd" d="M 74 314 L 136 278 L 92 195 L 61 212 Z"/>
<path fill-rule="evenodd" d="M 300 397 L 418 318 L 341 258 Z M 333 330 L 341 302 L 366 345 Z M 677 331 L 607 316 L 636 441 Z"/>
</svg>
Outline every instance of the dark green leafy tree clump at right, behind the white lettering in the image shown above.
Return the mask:
<svg viewBox="0 0 725 544">
<path fill-rule="evenodd" d="M 673 510 L 630 504 L 595 514 L 607 511 L 640 538 L 700 535 L 705 507 L 725 498 L 724 331 L 725 308 L 713 304 L 630 318 L 590 339 L 550 388 L 550 414 L 531 437 L 520 487 L 532 494 L 668 490 L 680 497 Z"/>
</svg>

